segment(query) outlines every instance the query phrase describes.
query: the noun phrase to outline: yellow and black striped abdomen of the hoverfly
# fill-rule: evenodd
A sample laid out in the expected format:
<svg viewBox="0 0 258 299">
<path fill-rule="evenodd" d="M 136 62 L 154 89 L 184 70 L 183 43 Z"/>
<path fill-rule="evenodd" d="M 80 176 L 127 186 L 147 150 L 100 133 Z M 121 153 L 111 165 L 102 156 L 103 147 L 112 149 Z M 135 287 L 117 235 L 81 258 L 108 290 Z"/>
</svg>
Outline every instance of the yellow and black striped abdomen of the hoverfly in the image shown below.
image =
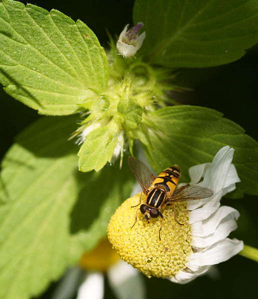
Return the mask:
<svg viewBox="0 0 258 299">
<path fill-rule="evenodd" d="M 155 178 L 151 186 L 154 186 L 155 188 L 163 187 L 165 192 L 172 194 L 180 175 L 180 169 L 176 165 L 168 167 Z"/>
</svg>

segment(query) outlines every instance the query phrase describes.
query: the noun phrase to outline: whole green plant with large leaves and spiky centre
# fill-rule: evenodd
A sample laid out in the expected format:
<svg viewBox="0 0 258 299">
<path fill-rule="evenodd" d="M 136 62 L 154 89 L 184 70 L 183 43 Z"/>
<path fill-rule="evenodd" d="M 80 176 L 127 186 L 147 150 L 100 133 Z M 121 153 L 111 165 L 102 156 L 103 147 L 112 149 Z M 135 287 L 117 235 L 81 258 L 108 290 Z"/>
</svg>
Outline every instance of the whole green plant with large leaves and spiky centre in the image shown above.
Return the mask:
<svg viewBox="0 0 258 299">
<path fill-rule="evenodd" d="M 241 127 L 208 108 L 159 109 L 170 100 L 166 91 L 176 89 L 171 67 L 225 64 L 257 41 L 257 9 L 257 0 L 136 0 L 134 21 L 144 22 L 146 31 L 135 55 L 140 58 L 118 56 L 113 41 L 107 65 L 82 21 L 54 9 L 0 2 L 4 90 L 41 114 L 83 112 L 42 117 L 2 161 L 0 298 L 39 294 L 105 237 L 134 181 L 126 159 L 120 170 L 112 157 L 123 147 L 131 150 L 133 139 L 156 172 L 178 164 L 181 182 L 189 181 L 190 166 L 211 162 L 229 145 L 241 179 L 233 196 L 258 194 L 257 142 Z M 74 131 L 85 137 L 80 148 L 68 141 Z"/>
</svg>

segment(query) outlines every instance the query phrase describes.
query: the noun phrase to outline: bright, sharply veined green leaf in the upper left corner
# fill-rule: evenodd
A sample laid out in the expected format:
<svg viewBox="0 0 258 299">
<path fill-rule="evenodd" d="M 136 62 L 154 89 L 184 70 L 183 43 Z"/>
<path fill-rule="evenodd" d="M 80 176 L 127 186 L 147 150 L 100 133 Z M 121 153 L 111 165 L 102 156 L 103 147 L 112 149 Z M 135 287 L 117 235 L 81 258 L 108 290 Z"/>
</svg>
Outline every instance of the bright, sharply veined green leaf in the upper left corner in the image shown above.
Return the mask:
<svg viewBox="0 0 258 299">
<path fill-rule="evenodd" d="M 79 111 L 94 90 L 107 86 L 103 48 L 80 20 L 58 10 L 0 3 L 0 82 L 5 91 L 41 114 Z"/>
</svg>

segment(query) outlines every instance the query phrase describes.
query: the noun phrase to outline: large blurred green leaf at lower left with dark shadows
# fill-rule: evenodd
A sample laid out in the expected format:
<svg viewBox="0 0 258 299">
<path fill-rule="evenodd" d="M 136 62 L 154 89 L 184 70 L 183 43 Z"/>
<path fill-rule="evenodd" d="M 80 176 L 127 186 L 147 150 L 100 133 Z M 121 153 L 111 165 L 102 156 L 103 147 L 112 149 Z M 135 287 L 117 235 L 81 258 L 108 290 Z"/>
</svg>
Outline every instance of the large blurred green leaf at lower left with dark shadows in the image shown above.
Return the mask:
<svg viewBox="0 0 258 299">
<path fill-rule="evenodd" d="M 75 116 L 39 119 L 2 162 L 0 298 L 42 292 L 106 236 L 111 215 L 129 196 L 128 167 L 77 170 L 77 146 L 67 141 L 74 123 Z"/>
</svg>

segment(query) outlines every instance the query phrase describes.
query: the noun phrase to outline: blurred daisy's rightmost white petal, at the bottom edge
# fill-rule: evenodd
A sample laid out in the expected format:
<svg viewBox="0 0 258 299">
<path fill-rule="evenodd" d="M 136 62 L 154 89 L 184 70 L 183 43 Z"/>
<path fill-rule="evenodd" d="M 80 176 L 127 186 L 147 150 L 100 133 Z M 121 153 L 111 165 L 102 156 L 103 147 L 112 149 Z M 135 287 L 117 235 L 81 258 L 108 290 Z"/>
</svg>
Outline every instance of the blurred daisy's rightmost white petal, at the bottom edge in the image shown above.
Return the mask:
<svg viewBox="0 0 258 299">
<path fill-rule="evenodd" d="M 107 272 L 109 285 L 119 299 L 144 299 L 145 289 L 139 272 L 120 261 Z"/>
</svg>

